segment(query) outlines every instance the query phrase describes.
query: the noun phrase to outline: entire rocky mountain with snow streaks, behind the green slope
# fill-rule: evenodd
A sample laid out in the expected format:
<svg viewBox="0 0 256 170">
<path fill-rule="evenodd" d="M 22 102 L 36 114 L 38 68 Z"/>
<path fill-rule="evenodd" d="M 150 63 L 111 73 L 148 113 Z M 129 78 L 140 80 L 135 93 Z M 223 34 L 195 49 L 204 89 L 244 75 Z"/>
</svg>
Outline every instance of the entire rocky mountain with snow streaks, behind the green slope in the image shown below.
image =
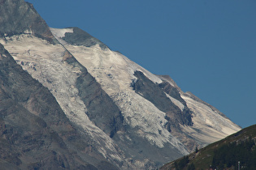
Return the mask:
<svg viewBox="0 0 256 170">
<path fill-rule="evenodd" d="M 0 4 L 2 167 L 158 168 L 241 130 L 80 28 Z"/>
</svg>

